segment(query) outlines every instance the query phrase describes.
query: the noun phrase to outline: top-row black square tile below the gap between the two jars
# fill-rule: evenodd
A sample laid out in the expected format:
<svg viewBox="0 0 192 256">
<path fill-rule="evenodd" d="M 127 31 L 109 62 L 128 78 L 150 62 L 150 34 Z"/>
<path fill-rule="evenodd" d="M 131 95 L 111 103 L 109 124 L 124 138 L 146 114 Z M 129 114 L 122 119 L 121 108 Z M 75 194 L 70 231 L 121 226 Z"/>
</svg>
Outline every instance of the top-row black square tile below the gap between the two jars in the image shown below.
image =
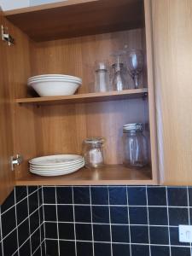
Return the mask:
<svg viewBox="0 0 192 256">
<path fill-rule="evenodd" d="M 127 205 L 126 187 L 109 187 L 110 205 Z"/>
</svg>

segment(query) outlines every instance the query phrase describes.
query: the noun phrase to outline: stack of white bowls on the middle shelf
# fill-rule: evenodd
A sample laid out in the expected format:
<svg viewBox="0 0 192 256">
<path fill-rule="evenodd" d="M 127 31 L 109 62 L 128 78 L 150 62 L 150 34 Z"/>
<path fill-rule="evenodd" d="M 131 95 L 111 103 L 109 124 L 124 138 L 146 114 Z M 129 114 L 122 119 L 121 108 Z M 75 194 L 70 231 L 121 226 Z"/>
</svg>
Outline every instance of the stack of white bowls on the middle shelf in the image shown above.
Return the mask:
<svg viewBox="0 0 192 256">
<path fill-rule="evenodd" d="M 44 74 L 27 80 L 39 96 L 73 95 L 82 84 L 82 79 L 63 74 Z"/>
</svg>

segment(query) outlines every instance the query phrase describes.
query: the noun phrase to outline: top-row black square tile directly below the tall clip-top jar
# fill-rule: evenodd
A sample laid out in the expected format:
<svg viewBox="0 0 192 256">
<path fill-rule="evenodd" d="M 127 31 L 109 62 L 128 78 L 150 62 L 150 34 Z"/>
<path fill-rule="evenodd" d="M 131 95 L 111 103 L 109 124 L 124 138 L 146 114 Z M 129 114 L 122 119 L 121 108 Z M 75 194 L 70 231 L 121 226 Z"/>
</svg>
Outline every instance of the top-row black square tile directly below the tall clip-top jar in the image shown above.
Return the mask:
<svg viewBox="0 0 192 256">
<path fill-rule="evenodd" d="M 130 206 L 146 206 L 146 187 L 128 187 L 128 202 Z"/>
</svg>

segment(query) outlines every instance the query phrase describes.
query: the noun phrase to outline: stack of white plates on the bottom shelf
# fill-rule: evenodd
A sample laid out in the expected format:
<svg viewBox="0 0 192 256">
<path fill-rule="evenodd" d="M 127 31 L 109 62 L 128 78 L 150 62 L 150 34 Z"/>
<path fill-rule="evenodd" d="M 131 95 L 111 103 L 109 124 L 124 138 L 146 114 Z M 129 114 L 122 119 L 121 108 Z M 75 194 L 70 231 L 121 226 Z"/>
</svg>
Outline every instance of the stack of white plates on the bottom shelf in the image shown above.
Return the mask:
<svg viewBox="0 0 192 256">
<path fill-rule="evenodd" d="M 77 172 L 84 167 L 84 158 L 78 154 L 56 154 L 29 160 L 30 172 L 40 176 L 60 176 Z"/>
</svg>

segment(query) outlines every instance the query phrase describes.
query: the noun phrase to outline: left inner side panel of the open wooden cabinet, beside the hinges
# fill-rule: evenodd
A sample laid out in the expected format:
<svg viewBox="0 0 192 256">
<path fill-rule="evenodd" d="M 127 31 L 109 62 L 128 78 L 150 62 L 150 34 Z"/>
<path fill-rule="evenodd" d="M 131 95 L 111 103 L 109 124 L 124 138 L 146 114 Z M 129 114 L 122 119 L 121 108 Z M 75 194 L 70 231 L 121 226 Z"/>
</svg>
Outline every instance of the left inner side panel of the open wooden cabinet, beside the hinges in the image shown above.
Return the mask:
<svg viewBox="0 0 192 256">
<path fill-rule="evenodd" d="M 30 51 L 32 41 L 13 26 L 8 20 L 5 25 L 9 28 L 9 33 L 15 38 L 15 44 L 6 47 L 7 55 L 7 73 L 9 95 L 12 100 L 12 127 L 14 152 L 13 154 L 21 154 L 24 162 L 21 166 L 15 167 L 15 177 L 22 177 L 27 172 L 27 160 L 37 154 L 36 147 L 36 125 L 35 115 L 32 106 L 22 107 L 15 103 L 18 97 L 27 95 L 26 81 L 31 76 Z"/>
</svg>

